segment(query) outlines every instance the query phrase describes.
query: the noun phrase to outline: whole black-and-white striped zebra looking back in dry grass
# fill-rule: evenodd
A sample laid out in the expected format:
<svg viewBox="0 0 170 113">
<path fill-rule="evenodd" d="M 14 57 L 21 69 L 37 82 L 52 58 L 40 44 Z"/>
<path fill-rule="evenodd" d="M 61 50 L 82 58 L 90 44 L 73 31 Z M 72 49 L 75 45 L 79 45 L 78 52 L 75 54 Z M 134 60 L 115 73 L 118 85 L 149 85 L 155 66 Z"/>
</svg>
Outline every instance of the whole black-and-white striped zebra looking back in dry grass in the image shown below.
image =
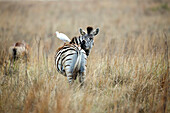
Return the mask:
<svg viewBox="0 0 170 113">
<path fill-rule="evenodd" d="M 57 71 L 66 76 L 70 84 L 76 80 L 77 75 L 81 86 L 84 84 L 87 57 L 94 45 L 93 38 L 98 32 L 99 28 L 93 31 L 92 27 L 87 27 L 87 33 L 80 28 L 81 36 L 72 38 L 69 44 L 64 44 L 56 51 Z"/>
</svg>

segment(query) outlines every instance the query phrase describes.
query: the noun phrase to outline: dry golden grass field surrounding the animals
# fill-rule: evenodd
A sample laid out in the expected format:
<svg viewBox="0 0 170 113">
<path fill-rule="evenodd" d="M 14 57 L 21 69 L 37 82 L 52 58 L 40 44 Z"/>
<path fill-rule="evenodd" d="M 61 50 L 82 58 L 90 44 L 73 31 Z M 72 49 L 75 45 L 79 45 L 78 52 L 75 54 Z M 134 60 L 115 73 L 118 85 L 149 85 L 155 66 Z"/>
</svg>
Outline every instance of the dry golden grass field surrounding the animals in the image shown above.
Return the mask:
<svg viewBox="0 0 170 113">
<path fill-rule="evenodd" d="M 99 27 L 85 87 L 72 87 L 54 56 L 79 28 Z M 30 60 L 10 63 L 8 49 L 30 45 Z M 0 2 L 0 113 L 170 112 L 168 0 Z"/>
</svg>

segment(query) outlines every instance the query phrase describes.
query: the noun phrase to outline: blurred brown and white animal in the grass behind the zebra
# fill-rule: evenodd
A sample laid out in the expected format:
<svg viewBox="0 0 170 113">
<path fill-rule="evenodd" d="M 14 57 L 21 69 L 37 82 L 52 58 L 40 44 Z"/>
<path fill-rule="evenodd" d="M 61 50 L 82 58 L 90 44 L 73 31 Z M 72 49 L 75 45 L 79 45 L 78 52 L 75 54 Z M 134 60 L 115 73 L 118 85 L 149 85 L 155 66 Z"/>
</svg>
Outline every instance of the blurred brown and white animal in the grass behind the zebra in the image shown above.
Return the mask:
<svg viewBox="0 0 170 113">
<path fill-rule="evenodd" d="M 16 42 L 9 48 L 10 60 L 26 59 L 29 60 L 29 46 L 24 42 Z"/>
</svg>

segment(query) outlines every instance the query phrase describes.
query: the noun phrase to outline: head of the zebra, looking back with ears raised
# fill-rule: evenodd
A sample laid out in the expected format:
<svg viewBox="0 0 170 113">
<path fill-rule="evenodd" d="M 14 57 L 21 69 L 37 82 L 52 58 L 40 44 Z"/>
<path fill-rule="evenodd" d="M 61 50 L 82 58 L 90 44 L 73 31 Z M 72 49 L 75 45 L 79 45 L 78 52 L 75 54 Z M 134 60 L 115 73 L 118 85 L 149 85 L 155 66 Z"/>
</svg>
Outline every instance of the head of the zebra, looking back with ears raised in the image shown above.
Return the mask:
<svg viewBox="0 0 170 113">
<path fill-rule="evenodd" d="M 94 36 L 99 33 L 99 28 L 93 30 L 92 27 L 87 27 L 87 33 L 80 28 L 80 34 L 82 35 L 81 48 L 85 50 L 87 56 L 90 53 L 91 48 L 94 45 Z"/>
</svg>

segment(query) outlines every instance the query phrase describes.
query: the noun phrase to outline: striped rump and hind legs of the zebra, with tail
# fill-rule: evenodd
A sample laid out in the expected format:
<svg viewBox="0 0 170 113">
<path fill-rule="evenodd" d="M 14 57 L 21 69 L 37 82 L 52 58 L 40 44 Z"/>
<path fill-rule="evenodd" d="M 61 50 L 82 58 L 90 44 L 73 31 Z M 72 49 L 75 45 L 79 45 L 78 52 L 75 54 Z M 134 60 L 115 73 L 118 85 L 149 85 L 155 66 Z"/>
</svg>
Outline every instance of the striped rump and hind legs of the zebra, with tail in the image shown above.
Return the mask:
<svg viewBox="0 0 170 113">
<path fill-rule="evenodd" d="M 57 71 L 67 76 L 69 83 L 79 75 L 79 81 L 83 84 L 86 75 L 86 53 L 81 47 L 74 44 L 66 44 L 56 53 L 55 64 Z"/>
</svg>

